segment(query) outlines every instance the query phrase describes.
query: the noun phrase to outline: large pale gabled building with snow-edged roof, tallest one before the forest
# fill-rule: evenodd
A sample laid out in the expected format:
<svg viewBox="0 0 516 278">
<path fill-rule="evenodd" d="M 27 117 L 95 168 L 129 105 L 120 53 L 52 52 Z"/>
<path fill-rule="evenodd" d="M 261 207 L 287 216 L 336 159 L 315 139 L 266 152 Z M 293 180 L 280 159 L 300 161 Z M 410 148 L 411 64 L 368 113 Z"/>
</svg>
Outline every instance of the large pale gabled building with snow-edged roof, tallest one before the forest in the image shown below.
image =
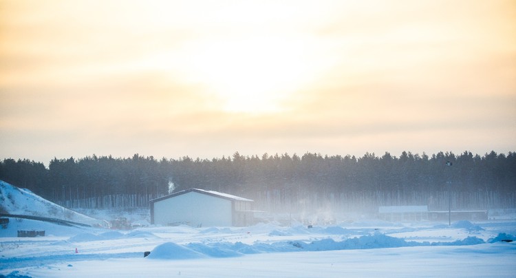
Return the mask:
<svg viewBox="0 0 516 278">
<path fill-rule="evenodd" d="M 252 200 L 203 189 L 187 189 L 151 202 L 151 224 L 175 226 L 248 226 Z"/>
</svg>

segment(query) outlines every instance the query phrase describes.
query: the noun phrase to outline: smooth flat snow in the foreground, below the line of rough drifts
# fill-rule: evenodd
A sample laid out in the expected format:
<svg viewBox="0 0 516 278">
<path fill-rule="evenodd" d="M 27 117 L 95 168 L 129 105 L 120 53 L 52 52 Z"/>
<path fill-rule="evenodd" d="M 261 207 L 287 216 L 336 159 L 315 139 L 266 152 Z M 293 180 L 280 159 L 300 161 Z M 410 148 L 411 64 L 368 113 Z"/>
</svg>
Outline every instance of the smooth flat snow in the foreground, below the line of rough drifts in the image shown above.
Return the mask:
<svg viewBox="0 0 516 278">
<path fill-rule="evenodd" d="M 262 253 L 212 259 L 92 259 L 32 268 L 34 277 L 514 277 L 515 248 L 480 246 Z"/>
</svg>

